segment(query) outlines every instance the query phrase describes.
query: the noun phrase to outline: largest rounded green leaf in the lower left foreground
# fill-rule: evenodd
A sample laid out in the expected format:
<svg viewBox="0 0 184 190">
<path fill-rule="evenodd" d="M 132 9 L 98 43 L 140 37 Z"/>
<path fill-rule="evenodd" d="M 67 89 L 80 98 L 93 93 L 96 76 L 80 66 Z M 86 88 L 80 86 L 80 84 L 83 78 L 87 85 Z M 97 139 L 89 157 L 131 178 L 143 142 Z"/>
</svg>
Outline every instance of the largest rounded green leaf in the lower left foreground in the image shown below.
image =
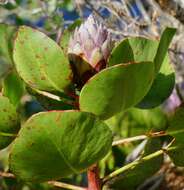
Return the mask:
<svg viewBox="0 0 184 190">
<path fill-rule="evenodd" d="M 12 147 L 11 171 L 26 181 L 47 181 L 80 173 L 111 148 L 108 126 L 79 111 L 51 111 L 31 117 Z"/>
</svg>

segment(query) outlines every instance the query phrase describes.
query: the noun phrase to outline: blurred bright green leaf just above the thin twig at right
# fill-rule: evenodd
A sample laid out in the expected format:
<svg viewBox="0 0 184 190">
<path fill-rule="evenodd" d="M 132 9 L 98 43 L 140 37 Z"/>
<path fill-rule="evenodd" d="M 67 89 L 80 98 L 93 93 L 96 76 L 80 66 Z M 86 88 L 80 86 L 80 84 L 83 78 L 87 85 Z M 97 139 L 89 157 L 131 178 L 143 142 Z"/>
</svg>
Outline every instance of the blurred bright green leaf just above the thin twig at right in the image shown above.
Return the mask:
<svg viewBox="0 0 184 190">
<path fill-rule="evenodd" d="M 167 116 L 160 107 L 154 109 L 130 108 L 105 121 L 113 133 L 122 138 L 150 132 L 162 131 L 167 127 Z"/>
</svg>

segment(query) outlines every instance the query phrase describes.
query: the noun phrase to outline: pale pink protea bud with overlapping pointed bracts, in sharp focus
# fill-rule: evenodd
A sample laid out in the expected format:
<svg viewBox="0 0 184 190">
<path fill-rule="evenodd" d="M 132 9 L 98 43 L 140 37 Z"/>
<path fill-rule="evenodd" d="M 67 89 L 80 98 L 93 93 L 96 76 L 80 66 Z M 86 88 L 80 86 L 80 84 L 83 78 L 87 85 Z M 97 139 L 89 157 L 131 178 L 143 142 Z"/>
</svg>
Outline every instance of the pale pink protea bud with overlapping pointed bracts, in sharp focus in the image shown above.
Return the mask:
<svg viewBox="0 0 184 190">
<path fill-rule="evenodd" d="M 107 28 L 90 15 L 71 37 L 68 54 L 77 70 L 80 69 L 80 75 L 83 75 L 89 71 L 89 68 L 94 72 L 105 68 L 111 49 L 112 40 Z M 89 66 L 81 66 L 81 61 L 78 61 L 76 56 L 86 62 L 82 64 L 89 64 Z"/>
</svg>

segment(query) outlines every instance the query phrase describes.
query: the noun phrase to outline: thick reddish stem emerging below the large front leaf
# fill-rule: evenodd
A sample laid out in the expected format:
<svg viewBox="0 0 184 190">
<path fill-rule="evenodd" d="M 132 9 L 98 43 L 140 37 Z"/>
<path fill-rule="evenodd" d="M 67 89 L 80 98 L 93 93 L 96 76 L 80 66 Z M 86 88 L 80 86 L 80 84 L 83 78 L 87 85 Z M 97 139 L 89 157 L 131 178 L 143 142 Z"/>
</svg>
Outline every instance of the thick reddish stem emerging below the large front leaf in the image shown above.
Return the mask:
<svg viewBox="0 0 184 190">
<path fill-rule="evenodd" d="M 88 168 L 88 189 L 87 190 L 100 190 L 101 180 L 99 176 L 98 166 L 94 165 Z"/>
</svg>

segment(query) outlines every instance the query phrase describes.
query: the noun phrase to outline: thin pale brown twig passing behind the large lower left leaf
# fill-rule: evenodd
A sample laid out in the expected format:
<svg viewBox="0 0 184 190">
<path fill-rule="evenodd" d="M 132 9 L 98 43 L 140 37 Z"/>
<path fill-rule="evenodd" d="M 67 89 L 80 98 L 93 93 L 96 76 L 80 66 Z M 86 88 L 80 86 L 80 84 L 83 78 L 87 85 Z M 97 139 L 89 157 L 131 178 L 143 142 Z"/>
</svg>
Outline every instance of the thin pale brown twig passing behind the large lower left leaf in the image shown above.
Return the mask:
<svg viewBox="0 0 184 190">
<path fill-rule="evenodd" d="M 7 172 L 2 172 L 0 171 L 0 177 L 5 177 L 5 178 L 13 178 L 15 179 L 15 175 L 12 173 L 7 173 Z M 65 188 L 65 189 L 70 189 L 70 190 L 87 190 L 87 188 L 84 187 L 79 187 L 63 182 L 58 182 L 58 181 L 48 181 L 47 182 L 49 185 L 52 185 L 54 187 L 60 187 L 60 188 Z"/>
</svg>

